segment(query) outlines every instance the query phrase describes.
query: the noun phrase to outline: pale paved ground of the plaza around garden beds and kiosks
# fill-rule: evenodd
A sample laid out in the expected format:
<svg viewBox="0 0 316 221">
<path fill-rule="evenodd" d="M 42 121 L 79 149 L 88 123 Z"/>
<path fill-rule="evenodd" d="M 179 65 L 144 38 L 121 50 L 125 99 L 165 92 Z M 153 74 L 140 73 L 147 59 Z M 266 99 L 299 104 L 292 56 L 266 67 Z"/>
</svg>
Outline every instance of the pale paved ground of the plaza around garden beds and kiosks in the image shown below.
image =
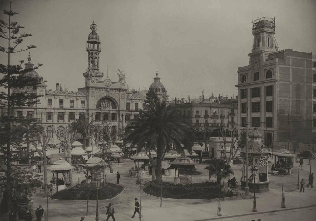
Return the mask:
<svg viewBox="0 0 316 221">
<path fill-rule="evenodd" d="M 53 150 L 55 152 L 55 150 Z M 58 154 L 53 154 L 58 156 Z M 272 159 L 270 158 L 270 161 Z M 116 220 L 131 220 L 131 215 L 134 211 L 134 198 L 139 198 L 139 186 L 135 184 L 136 178 L 130 177 L 128 175 L 128 170 L 134 166 L 134 163 L 128 159 L 122 159 L 123 162 L 120 166 L 114 167 L 114 173 L 110 173 L 109 170 L 107 173 L 107 182 L 116 183 L 116 173 L 119 171 L 121 174 L 120 184 L 125 189 L 117 197 L 111 200 L 100 200 L 99 201 L 99 218 L 100 220 L 106 219 L 106 208 L 109 202 L 119 203 L 114 205 L 115 208 L 115 218 Z M 304 160 L 303 170 L 299 169 L 300 179 L 303 177 L 305 180 L 308 179 L 309 174 L 309 165 L 308 160 Z M 312 170 L 316 168 L 316 160 L 312 160 Z M 270 164 L 272 165 L 272 164 Z M 269 165 L 269 167 L 270 167 Z M 192 176 L 193 182 L 204 182 L 208 181 L 208 171 L 204 171 L 206 164 L 198 164 L 196 169 L 202 174 L 197 176 Z M 237 181 L 241 177 L 241 168 L 242 165 L 234 165 L 234 176 Z M 50 173 L 49 176 L 52 176 Z M 73 180 L 74 182 L 81 182 L 84 179 L 83 173 L 74 172 Z M 173 182 L 173 177 L 163 176 L 164 181 Z M 272 175 L 269 176 L 270 179 L 270 191 L 266 193 L 256 194 L 257 196 L 257 209 L 258 214 L 256 218 L 267 216 L 271 211 L 279 212 L 279 210 L 284 210 L 281 208 L 281 176 Z M 50 180 L 50 179 L 49 179 Z M 143 178 L 143 180 L 151 180 L 151 176 Z M 240 184 L 240 182 L 238 183 Z M 225 184 L 226 185 L 226 184 Z M 240 189 L 240 186 L 237 188 L 244 195 L 244 191 Z M 316 205 L 316 188 L 305 188 L 305 193 L 301 193 L 297 189 L 297 166 L 292 170 L 291 175 L 283 176 L 283 190 L 285 192 L 286 208 L 302 208 Z M 160 207 L 160 198 L 155 196 L 150 196 L 145 193 L 141 193 L 141 205 L 143 206 L 143 220 L 170 220 L 170 221 L 194 221 L 194 220 L 208 220 L 208 219 L 217 219 L 225 218 L 231 216 L 239 216 L 245 214 L 252 214 L 252 193 L 250 199 L 244 199 L 243 196 L 237 196 L 232 198 L 221 199 L 221 212 L 222 216 L 219 217 L 217 213 L 217 200 L 182 200 L 182 199 L 162 199 L 162 207 Z M 39 193 L 33 195 L 33 209 L 35 209 L 39 204 L 43 205 L 46 210 L 46 198 L 40 196 Z M 70 221 L 70 220 L 80 220 L 81 216 L 85 216 L 85 221 L 95 220 L 95 208 L 96 201 L 89 201 L 88 215 L 87 211 L 87 201 L 61 201 L 61 200 L 51 200 L 48 201 L 48 216 L 49 220 L 56 221 Z M 308 207 L 315 208 L 315 207 Z M 306 208 L 307 209 L 307 208 Z M 269 213 L 270 212 L 270 213 Z M 231 217 L 231 218 L 233 218 Z M 251 216 L 245 216 L 243 220 L 251 220 Z M 137 219 L 137 216 L 134 218 Z M 110 218 L 111 220 L 111 218 Z M 229 220 L 229 219 L 225 219 Z M 241 219 L 240 219 L 241 220 Z M 304 220 L 313 220 L 306 217 Z"/>
</svg>

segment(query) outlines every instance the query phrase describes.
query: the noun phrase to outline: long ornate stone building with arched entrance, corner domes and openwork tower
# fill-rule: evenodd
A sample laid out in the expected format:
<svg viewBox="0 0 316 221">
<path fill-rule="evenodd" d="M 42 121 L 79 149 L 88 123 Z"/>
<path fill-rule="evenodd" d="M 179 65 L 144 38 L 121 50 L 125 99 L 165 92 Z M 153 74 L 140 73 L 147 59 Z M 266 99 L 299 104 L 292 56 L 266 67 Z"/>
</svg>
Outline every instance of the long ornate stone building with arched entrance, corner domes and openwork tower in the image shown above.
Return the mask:
<svg viewBox="0 0 316 221">
<path fill-rule="evenodd" d="M 85 86 L 78 88 L 77 92 L 68 91 L 56 83 L 55 90 L 47 89 L 47 85 L 42 83 L 37 87 L 19 89 L 43 95 L 39 98 L 40 103 L 27 107 L 14 107 L 15 116 L 28 116 L 42 118 L 42 125 L 46 133 L 51 137 L 51 143 L 58 143 L 53 128 L 58 132 L 60 127 L 64 127 L 75 119 L 88 118 L 95 119 L 95 123 L 111 127 L 111 131 L 119 131 L 125 127 L 130 119 L 139 115 L 139 110 L 143 108 L 146 99 L 146 90 L 129 91 L 126 87 L 125 74 L 118 71 L 117 81 L 112 81 L 108 77 L 103 78 L 100 72 L 100 38 L 96 33 L 97 25 L 92 23 L 91 33 L 88 35 L 88 69 L 83 73 Z M 33 70 L 33 64 L 28 57 L 26 69 L 30 69 L 27 76 L 33 76 L 43 82 L 43 77 Z M 154 82 L 150 86 L 159 93 L 161 99 L 166 97 L 166 90 L 160 82 L 158 71 Z M 116 137 L 118 138 L 118 137 Z"/>
</svg>

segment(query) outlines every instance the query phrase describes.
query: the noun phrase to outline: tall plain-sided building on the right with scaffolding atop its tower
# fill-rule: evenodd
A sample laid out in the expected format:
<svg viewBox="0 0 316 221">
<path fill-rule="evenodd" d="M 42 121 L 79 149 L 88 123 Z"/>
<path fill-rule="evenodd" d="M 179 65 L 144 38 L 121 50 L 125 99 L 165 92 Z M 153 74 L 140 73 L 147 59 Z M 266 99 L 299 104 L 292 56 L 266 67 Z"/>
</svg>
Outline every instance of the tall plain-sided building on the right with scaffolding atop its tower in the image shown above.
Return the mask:
<svg viewBox="0 0 316 221">
<path fill-rule="evenodd" d="M 246 128 L 247 123 L 251 130 L 258 128 L 267 146 L 292 150 L 292 144 L 299 143 L 310 147 L 316 139 L 313 55 L 279 50 L 275 33 L 275 18 L 252 21 L 249 64 L 237 70 L 239 128 Z"/>
</svg>

